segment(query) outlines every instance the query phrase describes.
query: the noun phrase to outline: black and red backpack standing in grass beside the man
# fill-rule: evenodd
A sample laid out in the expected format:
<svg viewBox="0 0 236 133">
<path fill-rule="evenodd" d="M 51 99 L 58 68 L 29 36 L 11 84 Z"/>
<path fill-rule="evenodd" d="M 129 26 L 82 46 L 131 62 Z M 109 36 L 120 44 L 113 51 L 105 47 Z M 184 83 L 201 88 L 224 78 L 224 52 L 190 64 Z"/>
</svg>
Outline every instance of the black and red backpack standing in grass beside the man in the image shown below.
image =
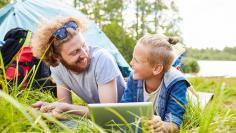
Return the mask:
<svg viewBox="0 0 236 133">
<path fill-rule="evenodd" d="M 32 47 L 29 45 L 31 35 L 31 31 L 19 27 L 6 33 L 1 47 L 6 79 L 13 81 L 17 78 L 18 85 L 22 83 L 25 88 L 32 76 L 32 68 L 39 65 L 33 88 L 49 89 L 56 96 L 55 84 L 50 80 L 50 68 L 43 62 L 39 64 L 40 60 L 33 56 Z"/>
</svg>

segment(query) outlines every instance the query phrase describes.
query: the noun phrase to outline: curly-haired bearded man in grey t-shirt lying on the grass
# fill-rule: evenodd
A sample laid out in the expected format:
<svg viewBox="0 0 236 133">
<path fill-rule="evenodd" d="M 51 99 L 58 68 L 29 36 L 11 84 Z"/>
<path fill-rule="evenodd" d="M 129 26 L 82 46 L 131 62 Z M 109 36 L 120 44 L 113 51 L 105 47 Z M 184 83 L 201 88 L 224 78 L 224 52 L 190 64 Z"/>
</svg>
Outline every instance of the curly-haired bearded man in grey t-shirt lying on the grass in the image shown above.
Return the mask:
<svg viewBox="0 0 236 133">
<path fill-rule="evenodd" d="M 84 26 L 78 18 L 60 18 L 42 25 L 32 39 L 33 53 L 51 66 L 57 84 L 59 102 L 37 102 L 43 112 L 76 110 L 87 114 L 83 106 L 72 105 L 71 90 L 87 103 L 114 103 L 121 99 L 125 82 L 108 51 L 89 47 L 82 36 Z M 46 52 L 45 52 L 46 51 Z"/>
</svg>

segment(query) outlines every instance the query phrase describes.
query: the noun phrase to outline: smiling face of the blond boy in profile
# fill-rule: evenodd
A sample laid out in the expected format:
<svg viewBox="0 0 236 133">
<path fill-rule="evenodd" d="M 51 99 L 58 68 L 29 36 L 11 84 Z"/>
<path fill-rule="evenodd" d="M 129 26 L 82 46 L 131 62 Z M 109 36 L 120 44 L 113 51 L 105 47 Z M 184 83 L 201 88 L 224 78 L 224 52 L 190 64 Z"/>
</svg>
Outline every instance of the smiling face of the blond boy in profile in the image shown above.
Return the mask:
<svg viewBox="0 0 236 133">
<path fill-rule="evenodd" d="M 154 76 L 153 66 L 148 62 L 148 49 L 142 44 L 135 46 L 130 65 L 134 70 L 134 80 L 146 80 Z"/>
</svg>

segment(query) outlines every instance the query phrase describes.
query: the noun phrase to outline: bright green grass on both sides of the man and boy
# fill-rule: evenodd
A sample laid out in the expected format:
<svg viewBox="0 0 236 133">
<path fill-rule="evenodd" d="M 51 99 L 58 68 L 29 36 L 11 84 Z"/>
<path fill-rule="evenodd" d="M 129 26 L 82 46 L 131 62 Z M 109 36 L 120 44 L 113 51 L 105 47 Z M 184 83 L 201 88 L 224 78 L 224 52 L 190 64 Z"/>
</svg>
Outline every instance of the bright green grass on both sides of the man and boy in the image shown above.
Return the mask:
<svg viewBox="0 0 236 133">
<path fill-rule="evenodd" d="M 1 58 L 0 61 L 2 61 Z M 3 68 L 2 65 L 1 68 Z M 1 132 L 94 131 L 84 117 L 68 116 L 79 125 L 77 128 L 71 129 L 58 120 L 31 108 L 31 104 L 38 100 L 53 102 L 56 101 L 56 98 L 47 91 L 33 89 L 31 82 L 22 92 L 20 85 L 17 85 L 16 82 L 10 85 L 4 75 L 3 71 L 0 77 L 3 88 L 0 91 Z M 33 78 L 31 81 L 34 81 Z M 195 90 L 212 92 L 215 96 L 205 109 L 201 109 L 199 105 L 194 105 L 189 101 L 180 132 L 236 132 L 236 78 L 192 78 L 190 81 Z M 86 105 L 75 95 L 73 101 L 76 104 Z M 99 130 L 103 131 L 103 129 Z"/>
</svg>

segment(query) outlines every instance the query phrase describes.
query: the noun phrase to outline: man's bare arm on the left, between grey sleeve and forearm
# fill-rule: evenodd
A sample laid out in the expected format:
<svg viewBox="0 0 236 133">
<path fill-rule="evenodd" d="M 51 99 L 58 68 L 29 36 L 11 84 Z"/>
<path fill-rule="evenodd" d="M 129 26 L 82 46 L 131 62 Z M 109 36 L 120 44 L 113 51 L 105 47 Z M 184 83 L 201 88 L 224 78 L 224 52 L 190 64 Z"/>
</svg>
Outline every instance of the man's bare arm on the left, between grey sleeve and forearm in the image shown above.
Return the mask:
<svg viewBox="0 0 236 133">
<path fill-rule="evenodd" d="M 60 102 L 72 103 L 71 91 L 64 85 L 57 85 L 57 98 Z"/>
</svg>

